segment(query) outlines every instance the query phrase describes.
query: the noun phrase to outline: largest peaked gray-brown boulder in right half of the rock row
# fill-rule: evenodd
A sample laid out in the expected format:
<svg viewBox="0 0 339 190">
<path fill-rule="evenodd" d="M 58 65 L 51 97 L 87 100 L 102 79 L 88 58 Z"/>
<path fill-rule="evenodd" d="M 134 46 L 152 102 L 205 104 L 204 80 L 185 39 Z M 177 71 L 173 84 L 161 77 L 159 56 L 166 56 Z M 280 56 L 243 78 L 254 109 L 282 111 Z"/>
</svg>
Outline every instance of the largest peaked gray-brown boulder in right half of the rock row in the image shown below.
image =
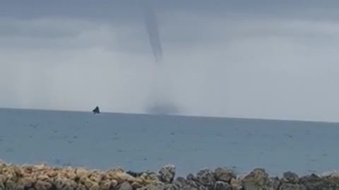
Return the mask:
<svg viewBox="0 0 339 190">
<path fill-rule="evenodd" d="M 242 179 L 242 186 L 246 190 L 273 190 L 273 184 L 265 170 L 256 168 Z"/>
</svg>

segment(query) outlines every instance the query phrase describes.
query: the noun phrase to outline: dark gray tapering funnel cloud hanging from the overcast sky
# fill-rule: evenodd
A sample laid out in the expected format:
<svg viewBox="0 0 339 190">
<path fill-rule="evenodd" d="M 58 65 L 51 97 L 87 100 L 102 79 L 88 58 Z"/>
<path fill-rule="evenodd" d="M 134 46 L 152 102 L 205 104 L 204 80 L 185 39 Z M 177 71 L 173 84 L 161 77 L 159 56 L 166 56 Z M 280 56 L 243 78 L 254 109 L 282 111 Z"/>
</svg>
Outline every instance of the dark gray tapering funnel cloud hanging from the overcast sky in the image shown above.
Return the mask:
<svg viewBox="0 0 339 190">
<path fill-rule="evenodd" d="M 145 2 L 145 26 L 150 40 L 150 46 L 152 47 L 155 61 L 160 63 L 162 61 L 162 48 L 159 35 L 159 26 L 157 25 L 157 16 L 151 4 Z"/>
</svg>

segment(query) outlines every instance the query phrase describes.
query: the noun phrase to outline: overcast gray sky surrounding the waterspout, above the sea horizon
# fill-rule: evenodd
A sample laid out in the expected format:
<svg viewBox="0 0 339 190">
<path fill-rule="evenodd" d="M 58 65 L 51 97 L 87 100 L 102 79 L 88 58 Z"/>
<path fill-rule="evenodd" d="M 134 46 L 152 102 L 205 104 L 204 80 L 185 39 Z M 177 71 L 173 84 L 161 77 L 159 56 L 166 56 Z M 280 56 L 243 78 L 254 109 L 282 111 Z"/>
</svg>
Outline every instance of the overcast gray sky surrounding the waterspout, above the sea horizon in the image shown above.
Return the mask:
<svg viewBox="0 0 339 190">
<path fill-rule="evenodd" d="M 143 113 L 142 1 L 1 1 L 0 106 Z M 339 121 L 339 1 L 153 1 L 184 115 Z M 159 77 L 159 76 L 158 76 Z"/>
</svg>

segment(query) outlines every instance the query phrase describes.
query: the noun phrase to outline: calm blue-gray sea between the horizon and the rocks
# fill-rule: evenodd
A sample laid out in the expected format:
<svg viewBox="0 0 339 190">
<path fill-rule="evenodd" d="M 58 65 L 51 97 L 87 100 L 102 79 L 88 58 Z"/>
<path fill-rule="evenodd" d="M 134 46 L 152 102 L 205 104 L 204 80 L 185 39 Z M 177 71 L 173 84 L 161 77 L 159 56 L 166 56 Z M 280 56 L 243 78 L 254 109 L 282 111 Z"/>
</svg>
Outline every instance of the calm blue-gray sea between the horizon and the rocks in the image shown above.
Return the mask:
<svg viewBox="0 0 339 190">
<path fill-rule="evenodd" d="M 16 164 L 304 175 L 337 170 L 338 146 L 339 123 L 0 109 L 0 158 Z"/>
</svg>

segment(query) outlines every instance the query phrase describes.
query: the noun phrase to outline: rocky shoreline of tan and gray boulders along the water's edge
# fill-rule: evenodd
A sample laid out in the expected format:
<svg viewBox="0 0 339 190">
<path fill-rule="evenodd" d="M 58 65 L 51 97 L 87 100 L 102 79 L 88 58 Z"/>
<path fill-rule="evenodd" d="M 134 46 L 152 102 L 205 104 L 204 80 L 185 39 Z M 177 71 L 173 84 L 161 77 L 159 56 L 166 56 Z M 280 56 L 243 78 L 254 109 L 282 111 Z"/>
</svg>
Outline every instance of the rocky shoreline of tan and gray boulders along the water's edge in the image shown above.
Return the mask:
<svg viewBox="0 0 339 190">
<path fill-rule="evenodd" d="M 285 172 L 279 178 L 256 168 L 240 177 L 232 169 L 219 167 L 175 177 L 175 170 L 174 165 L 166 165 L 159 172 L 131 172 L 1 162 L 0 190 L 339 190 L 338 173 L 299 177 Z"/>
</svg>

